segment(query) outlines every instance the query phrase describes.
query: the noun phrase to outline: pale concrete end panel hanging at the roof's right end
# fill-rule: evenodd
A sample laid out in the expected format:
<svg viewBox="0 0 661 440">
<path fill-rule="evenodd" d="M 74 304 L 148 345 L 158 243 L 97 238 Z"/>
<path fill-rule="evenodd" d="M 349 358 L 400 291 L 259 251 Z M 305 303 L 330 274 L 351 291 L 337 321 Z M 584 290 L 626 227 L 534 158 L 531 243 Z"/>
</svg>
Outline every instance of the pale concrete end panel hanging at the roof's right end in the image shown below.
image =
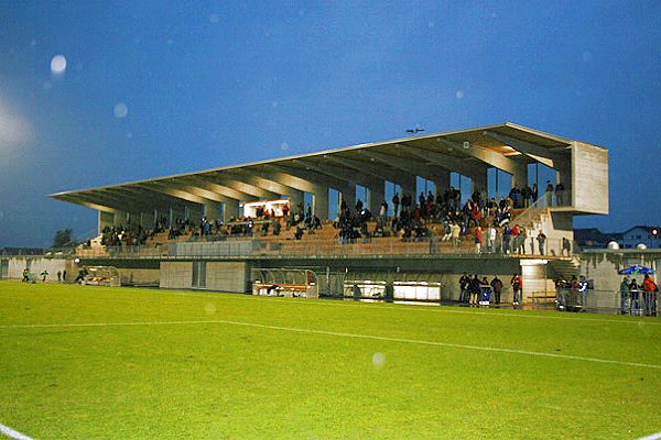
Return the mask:
<svg viewBox="0 0 661 440">
<path fill-rule="evenodd" d="M 578 211 L 608 213 L 608 151 L 572 143 L 572 200 Z"/>
</svg>

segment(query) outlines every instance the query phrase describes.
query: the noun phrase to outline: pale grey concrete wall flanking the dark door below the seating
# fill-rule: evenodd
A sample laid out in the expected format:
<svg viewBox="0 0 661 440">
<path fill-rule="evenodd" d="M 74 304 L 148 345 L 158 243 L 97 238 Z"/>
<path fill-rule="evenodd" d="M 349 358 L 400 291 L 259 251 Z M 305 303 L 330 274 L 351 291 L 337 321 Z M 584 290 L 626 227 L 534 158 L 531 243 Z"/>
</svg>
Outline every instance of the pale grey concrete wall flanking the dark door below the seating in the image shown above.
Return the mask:
<svg viewBox="0 0 661 440">
<path fill-rule="evenodd" d="M 160 286 L 162 288 L 193 288 L 193 262 L 161 262 Z M 207 262 L 206 287 L 204 288 L 220 292 L 246 292 L 247 264 L 245 262 Z"/>
</svg>

